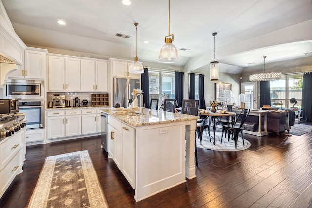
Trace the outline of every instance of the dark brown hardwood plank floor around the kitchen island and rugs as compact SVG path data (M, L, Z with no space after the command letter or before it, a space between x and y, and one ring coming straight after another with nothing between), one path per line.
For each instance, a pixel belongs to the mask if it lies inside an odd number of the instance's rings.
M199 148L195 179L140 202L112 159L104 156L100 137L28 146L24 172L3 195L0 207L27 206L46 156L89 150L111 208L311 208L311 133L245 137L251 147L244 151Z

